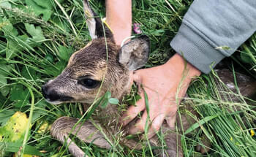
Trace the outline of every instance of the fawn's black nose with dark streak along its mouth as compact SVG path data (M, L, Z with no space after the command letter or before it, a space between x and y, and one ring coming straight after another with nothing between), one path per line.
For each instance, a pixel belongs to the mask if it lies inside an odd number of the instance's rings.
M42 86L42 96L50 102L65 102L73 99L71 96L65 96L64 94L57 93L54 89L50 88L49 85Z

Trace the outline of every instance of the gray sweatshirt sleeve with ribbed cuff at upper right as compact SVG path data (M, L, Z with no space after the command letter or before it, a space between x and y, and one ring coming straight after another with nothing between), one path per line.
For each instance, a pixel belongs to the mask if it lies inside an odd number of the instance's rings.
M255 31L256 0L195 0L170 46L208 73Z

